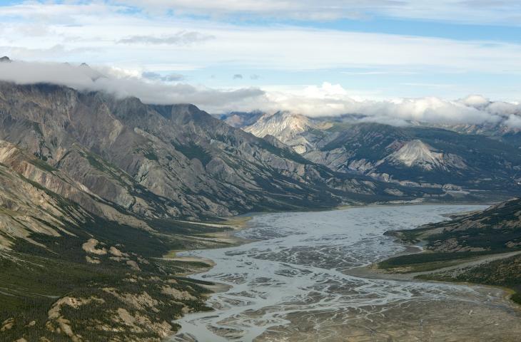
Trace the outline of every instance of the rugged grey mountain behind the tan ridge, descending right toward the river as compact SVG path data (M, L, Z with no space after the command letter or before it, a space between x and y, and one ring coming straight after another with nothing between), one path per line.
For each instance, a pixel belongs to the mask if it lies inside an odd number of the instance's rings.
M0 123L1 140L141 217L330 207L388 187L333 172L193 105L1 83Z

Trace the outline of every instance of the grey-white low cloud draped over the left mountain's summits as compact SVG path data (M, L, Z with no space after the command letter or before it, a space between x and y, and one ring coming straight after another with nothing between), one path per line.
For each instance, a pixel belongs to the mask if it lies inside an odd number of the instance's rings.
M121 68L100 68L97 71L88 66L71 66L67 63L0 63L0 81L18 84L55 83L77 90L104 91L121 98L136 96L144 103L195 103L208 110L241 105L248 99L264 95L263 90L258 88L216 90L185 83L166 84L147 81L138 71Z

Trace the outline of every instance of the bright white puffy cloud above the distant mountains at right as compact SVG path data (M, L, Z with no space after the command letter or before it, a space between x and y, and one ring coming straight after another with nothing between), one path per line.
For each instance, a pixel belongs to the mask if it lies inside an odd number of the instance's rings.
M478 99L482 100L478 102ZM266 91L265 96L252 99L248 108L235 109L260 108L268 112L288 110L310 117L361 114L365 115L365 121L391 125L406 125L410 122L517 125L521 105L488 100L485 105L485 100L479 95L462 100L443 100L435 97L360 99L351 97L349 91L340 85L323 83L322 86L301 89Z

